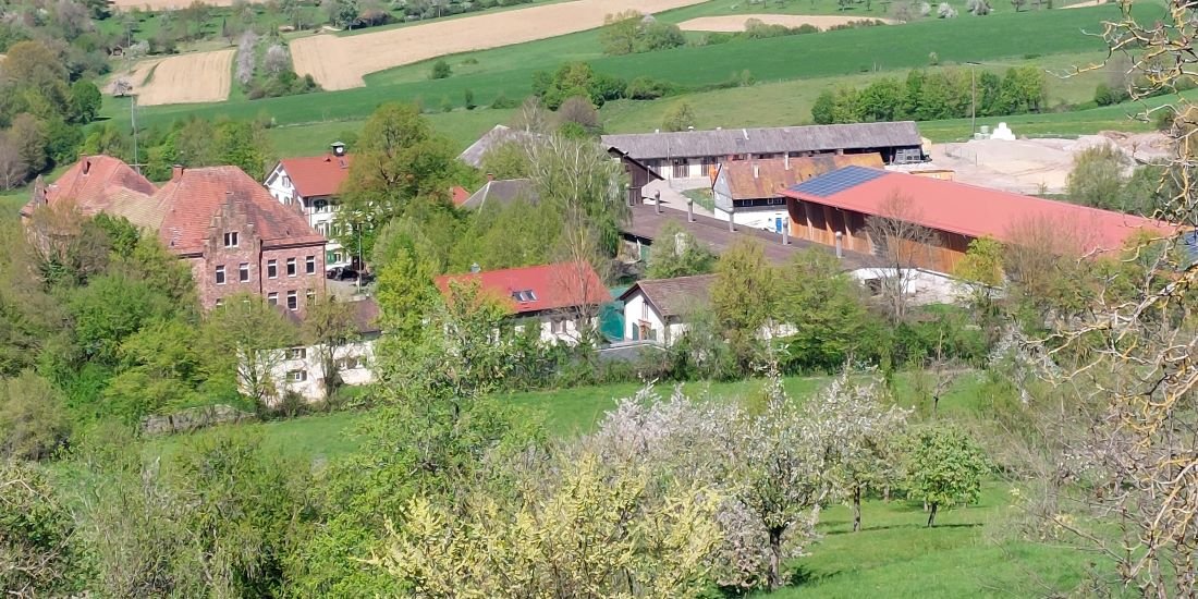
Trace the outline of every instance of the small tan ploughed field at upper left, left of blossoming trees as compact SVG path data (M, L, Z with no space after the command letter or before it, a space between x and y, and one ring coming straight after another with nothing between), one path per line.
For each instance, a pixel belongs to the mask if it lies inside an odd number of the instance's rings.
M222 102L229 99L235 54L229 48L144 60L132 71L113 75L107 91L111 93L116 79L125 78L144 107Z

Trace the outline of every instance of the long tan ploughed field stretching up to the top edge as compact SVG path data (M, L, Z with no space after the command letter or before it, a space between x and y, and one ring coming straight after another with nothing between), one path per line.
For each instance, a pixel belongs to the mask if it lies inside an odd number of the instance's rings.
M362 77L401 65L470 50L585 31L605 16L628 10L654 13L703 0L576 0L477 17L362 34L314 35L291 42L296 73L310 74L326 90L361 87Z

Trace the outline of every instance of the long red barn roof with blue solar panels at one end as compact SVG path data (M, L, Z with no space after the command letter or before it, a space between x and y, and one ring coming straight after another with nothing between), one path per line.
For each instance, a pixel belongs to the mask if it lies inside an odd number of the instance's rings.
M1139 231L1157 235L1174 231L1158 220L1119 212L906 173L877 174L860 167L812 179L783 195L864 214L882 214L887 211L885 202L896 195L909 198L910 220L915 224L1006 243L1018 243L1021 229L1037 223L1071 228L1067 234L1076 234L1082 253L1118 250Z

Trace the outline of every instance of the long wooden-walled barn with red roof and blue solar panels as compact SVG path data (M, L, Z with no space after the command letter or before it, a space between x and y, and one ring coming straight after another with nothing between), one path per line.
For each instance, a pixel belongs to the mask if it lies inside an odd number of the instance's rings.
M944 273L954 272L978 237L1019 244L1051 228L1061 249L1095 254L1117 252L1143 231L1173 232L1148 218L865 167L846 167L782 194L795 238L835 246L839 235L843 249L873 253L867 219L906 220L934 234L926 252L914 253L915 266Z

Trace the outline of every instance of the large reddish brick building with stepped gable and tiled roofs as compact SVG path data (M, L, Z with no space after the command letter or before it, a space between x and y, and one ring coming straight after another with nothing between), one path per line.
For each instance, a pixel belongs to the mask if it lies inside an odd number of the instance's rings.
M36 186L22 216L62 202L156 231L192 267L205 309L247 292L302 315L325 292L325 237L236 167L176 167L155 188L116 158L84 157L50 186Z

